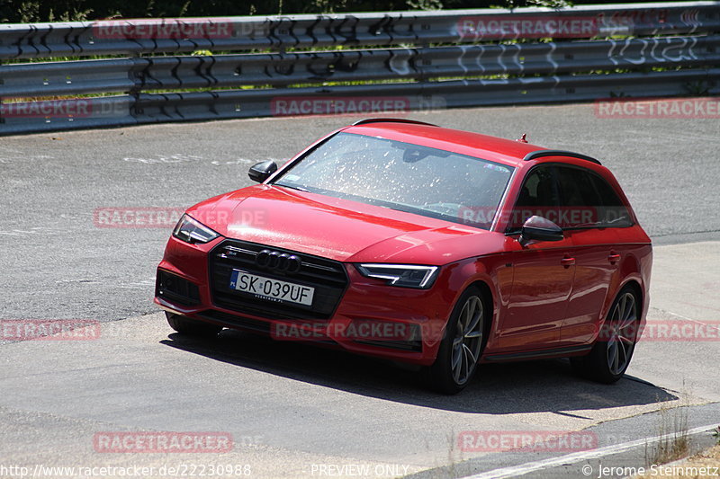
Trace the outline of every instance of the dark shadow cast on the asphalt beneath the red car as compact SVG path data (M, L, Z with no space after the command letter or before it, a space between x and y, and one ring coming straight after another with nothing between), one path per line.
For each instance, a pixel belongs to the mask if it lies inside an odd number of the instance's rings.
M278 342L227 329L212 339L172 333L161 343L279 377L356 395L455 412L556 412L584 418L572 411L678 399L678 396L642 378L628 375L614 385L591 382L576 376L567 359L482 364L472 384L462 393L448 396L431 391L421 371L344 350L299 342ZM491 400L488 400L489 397Z

